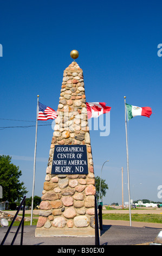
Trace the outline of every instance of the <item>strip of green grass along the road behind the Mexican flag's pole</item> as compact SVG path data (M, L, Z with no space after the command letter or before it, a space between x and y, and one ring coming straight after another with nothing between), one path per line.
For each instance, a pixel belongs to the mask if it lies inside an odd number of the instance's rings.
M129 221L129 214L103 214L103 220ZM162 223L160 214L131 214L132 221Z

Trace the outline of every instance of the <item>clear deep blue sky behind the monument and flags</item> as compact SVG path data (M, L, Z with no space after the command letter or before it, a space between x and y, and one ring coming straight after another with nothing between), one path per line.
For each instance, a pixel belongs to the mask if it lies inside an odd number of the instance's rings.
M90 131L95 176L102 170L109 190L103 203L121 204L121 167L127 183L125 111L131 105L152 108L151 118L129 121L131 198L158 201L161 173L161 1L1 1L0 126L35 125L40 102L57 109L63 70L72 63L83 69L86 99L111 106L110 134ZM48 120L51 124L52 120ZM45 121L39 124L47 124ZM53 136L38 126L35 195L42 196ZM12 156L31 196L35 127L0 130L0 154ZM139 185L142 183L142 185ZM124 184L124 201L128 200Z

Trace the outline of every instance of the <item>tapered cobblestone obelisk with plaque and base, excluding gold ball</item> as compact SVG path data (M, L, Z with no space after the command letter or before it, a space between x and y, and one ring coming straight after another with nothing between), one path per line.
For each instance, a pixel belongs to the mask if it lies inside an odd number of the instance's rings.
M95 236L95 178L83 71L64 70L35 236Z

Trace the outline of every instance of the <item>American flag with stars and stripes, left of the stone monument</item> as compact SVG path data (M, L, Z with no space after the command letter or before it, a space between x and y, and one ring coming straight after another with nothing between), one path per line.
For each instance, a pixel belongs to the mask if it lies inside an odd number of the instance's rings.
M56 117L57 112L54 109L39 102L38 120L55 119Z

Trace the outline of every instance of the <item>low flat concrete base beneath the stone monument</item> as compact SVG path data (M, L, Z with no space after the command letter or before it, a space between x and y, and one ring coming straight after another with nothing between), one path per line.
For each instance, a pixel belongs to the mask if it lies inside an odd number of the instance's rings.
M77 237L95 237L95 229L86 228L36 228L35 237L52 236L77 236Z

